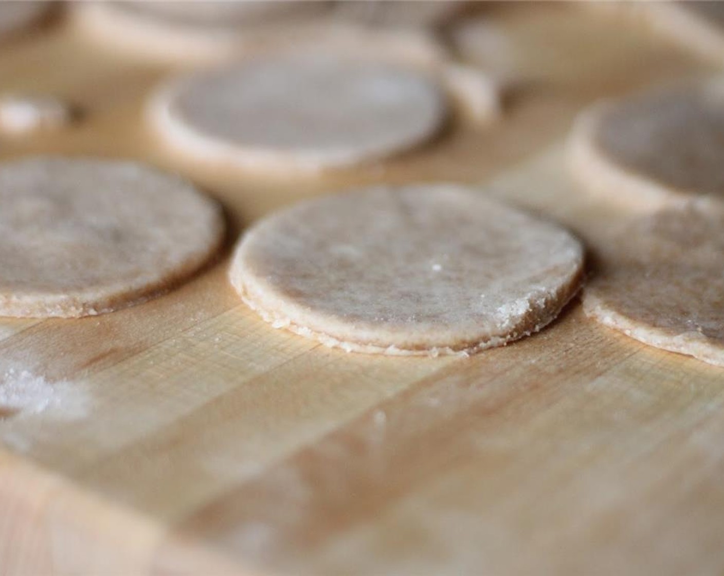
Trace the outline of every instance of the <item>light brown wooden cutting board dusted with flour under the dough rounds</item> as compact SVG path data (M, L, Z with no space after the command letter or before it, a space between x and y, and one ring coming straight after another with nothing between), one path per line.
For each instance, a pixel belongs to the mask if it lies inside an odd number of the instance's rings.
M615 218L565 174L563 138L600 96L706 72L635 25L563 4L491 8L520 81L489 128L324 178L261 178L172 156L143 101L178 65L72 22L0 51L4 90L88 109L0 141L182 172L249 222L322 191L454 180L595 243ZM1 206L0 206L1 209ZM160 299L84 320L0 320L0 574L718 574L724 371L586 320L471 359L345 354L272 330L227 256ZM10 376L9 376L10 375ZM0 409L2 407L0 406Z

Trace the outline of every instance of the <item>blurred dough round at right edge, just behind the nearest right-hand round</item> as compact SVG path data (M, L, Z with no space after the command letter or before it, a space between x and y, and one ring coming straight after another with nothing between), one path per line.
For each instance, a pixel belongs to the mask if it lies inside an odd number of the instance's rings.
M724 195L724 83L594 104L576 120L569 144L581 185L631 207Z

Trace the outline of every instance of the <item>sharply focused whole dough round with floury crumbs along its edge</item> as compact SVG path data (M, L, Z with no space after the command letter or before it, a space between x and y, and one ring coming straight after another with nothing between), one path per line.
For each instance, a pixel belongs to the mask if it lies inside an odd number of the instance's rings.
M565 230L453 185L370 188L259 222L230 280L274 327L381 354L471 354L540 330L578 291Z

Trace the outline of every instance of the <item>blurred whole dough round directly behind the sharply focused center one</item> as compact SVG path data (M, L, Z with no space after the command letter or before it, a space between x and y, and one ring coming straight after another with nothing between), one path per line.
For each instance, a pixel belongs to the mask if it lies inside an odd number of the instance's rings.
M441 127L446 103L412 70L305 54L198 72L163 88L151 120L197 157L320 170L390 156Z

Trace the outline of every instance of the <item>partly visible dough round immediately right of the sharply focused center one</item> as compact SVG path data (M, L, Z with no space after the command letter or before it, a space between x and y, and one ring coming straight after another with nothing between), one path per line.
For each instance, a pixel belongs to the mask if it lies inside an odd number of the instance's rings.
M724 208L696 199L620 226L586 314L650 346L724 366Z

